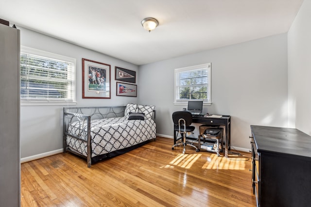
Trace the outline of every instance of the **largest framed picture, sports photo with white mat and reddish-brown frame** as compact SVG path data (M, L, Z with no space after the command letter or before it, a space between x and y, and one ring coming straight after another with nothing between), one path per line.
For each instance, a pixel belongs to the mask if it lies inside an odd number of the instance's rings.
M82 58L82 98L110 98L110 64Z

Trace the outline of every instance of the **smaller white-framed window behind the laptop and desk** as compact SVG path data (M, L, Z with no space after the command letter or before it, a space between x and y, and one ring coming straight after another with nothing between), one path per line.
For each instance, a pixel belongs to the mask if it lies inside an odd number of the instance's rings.
M175 69L175 103L200 99L211 103L211 64Z

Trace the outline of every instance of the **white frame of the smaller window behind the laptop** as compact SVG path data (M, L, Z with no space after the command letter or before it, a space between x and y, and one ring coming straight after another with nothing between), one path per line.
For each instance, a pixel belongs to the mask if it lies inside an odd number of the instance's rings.
M177 78L178 74L181 72L194 71L200 69L207 69L207 99L177 99L178 92L177 89ZM189 100L203 100L204 105L211 105L211 63L199 64L188 67L176 68L174 69L174 104L175 105L185 105Z

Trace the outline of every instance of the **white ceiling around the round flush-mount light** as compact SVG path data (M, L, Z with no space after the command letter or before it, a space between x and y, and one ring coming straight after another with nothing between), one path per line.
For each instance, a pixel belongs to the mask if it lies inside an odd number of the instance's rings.
M303 0L0 0L0 18L141 65L288 32ZM154 17L152 32L140 22Z

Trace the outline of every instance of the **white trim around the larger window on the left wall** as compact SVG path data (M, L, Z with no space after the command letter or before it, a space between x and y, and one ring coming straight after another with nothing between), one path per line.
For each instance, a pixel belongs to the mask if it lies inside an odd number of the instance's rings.
M37 55L37 56L42 56L42 57L47 57L47 58L52 58L60 61L65 61L65 62L71 62L72 65L72 76L74 79L72 80L72 101L23 101L20 99L20 106L71 106L71 105L76 105L76 59L75 58L70 58L67 56L55 54L52 52L47 52L35 48L29 48L26 46L20 46L20 52L21 53L27 53L27 54L32 54L32 55Z

